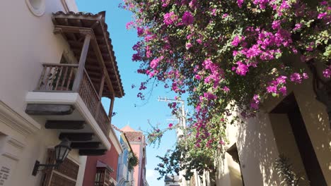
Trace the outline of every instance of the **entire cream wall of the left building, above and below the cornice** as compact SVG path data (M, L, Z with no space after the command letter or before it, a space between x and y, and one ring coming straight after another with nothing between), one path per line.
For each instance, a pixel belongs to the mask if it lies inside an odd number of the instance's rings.
M74 0L69 10L77 11ZM54 130L45 130L44 120L25 114L25 95L35 89L42 63L59 63L69 46L53 34L51 13L64 11L62 0L45 0L45 13L35 16L25 0L2 0L0 6L0 168L10 168L4 185L39 185L41 173L31 175L36 160L45 163L47 148L59 143ZM80 164L79 180L86 157L76 150L69 159Z

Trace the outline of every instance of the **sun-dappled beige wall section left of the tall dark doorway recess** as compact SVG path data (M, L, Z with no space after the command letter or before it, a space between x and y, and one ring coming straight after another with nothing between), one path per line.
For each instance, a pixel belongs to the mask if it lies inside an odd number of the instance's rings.
M279 185L274 168L278 150L266 113L239 124L238 152L245 185Z

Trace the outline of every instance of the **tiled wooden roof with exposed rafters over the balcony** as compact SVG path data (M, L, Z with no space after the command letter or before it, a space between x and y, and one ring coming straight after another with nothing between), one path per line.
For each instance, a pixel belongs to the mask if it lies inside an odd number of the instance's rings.
M93 32L92 39L95 39L98 43L98 48L105 62L105 68L112 82L112 87L108 87L105 83L103 97L112 98L112 88L114 89L115 97L123 97L124 89L112 47L112 40L107 30L108 25L105 23L105 11L96 14L82 12L64 13L59 11L52 14L52 21L55 27L65 27L67 30L70 30L70 32L62 32L62 36L69 43L77 61L79 61L84 42L84 30L91 30ZM99 65L98 56L95 53L97 52L90 47L85 68L95 88L99 89L103 68Z

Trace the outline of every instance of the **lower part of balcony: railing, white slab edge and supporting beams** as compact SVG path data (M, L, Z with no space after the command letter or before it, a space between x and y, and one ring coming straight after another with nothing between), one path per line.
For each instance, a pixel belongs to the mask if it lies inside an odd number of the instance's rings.
M83 74L77 81L77 64L44 63L42 66L36 89L28 93L25 112L45 118L45 128L59 130L59 138L69 138L73 142L72 148L79 149L81 155L103 154L110 147L107 144L111 130L110 116L103 108L100 93L96 91L86 69L83 68ZM73 100L81 100L83 104L78 106L76 101L63 101L72 95L78 98Z

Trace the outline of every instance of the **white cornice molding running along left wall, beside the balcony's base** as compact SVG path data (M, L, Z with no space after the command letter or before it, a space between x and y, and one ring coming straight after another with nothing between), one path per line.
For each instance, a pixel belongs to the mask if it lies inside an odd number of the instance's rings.
M23 136L28 137L28 135L32 135L37 130L40 130L41 125L34 120L27 120L23 118L20 114L13 111L8 105L6 105L3 101L0 101L0 121L9 128L16 130L21 133Z

